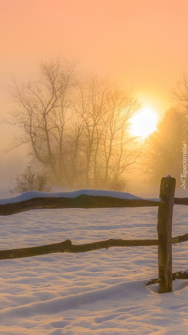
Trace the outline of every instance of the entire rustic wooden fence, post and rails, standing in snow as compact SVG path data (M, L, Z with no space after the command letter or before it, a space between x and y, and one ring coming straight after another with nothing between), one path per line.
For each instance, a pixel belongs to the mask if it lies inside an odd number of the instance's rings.
M172 244L188 241L188 234L172 238L172 216L174 204L188 205L188 198L175 198L175 178L161 180L159 198L161 201L146 199L119 199L105 196L80 195L76 198L32 198L15 203L0 205L0 215L11 215L30 209L45 208L112 208L112 207L151 207L158 206L157 240L115 240L73 245L70 240L44 246L0 250L0 260L30 257L57 252L79 253L111 247L158 246L159 278L150 280L147 285L159 283L159 293L172 292L172 281L188 279L186 272L172 273Z

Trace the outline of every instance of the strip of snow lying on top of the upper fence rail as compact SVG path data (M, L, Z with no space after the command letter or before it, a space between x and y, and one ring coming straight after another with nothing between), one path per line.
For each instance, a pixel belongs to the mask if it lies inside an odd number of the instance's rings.
M160 198L140 198L136 197L133 194L125 193L125 192L116 192L116 191L106 191L106 190L77 190L73 192L38 192L38 191L28 191L24 192L16 197L0 199L0 205L16 203L20 201L30 200L32 198L76 198L82 194L90 195L90 196L101 196L101 197L111 197L111 198L119 198L119 199L143 199L150 201L158 201L161 202Z

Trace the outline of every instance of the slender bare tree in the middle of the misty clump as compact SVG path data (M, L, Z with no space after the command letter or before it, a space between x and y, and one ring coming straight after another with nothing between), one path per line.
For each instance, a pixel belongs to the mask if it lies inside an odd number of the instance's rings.
M85 152L87 186L90 185L91 181L97 186L97 154L104 129L102 116L106 112L105 99L109 87L108 78L101 79L94 76L82 77L76 86L74 108L78 115L78 120L82 120L82 151Z

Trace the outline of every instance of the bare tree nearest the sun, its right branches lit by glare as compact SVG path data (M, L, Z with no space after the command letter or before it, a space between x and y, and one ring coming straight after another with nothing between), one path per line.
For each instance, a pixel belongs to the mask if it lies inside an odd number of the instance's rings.
M113 87L107 94L107 112L104 114L103 132L103 183L127 172L140 154L140 148L134 148L135 137L130 135L132 117L140 110L140 104L132 90Z

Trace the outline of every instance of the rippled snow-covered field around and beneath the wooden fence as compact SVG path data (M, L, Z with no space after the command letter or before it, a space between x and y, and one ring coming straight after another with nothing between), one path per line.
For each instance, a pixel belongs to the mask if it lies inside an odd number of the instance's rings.
M11 197L0 182L0 198ZM133 193L133 192L132 192ZM187 196L177 190L176 196ZM136 196L158 197L159 188ZM0 217L0 249L65 241L156 239L158 207L32 210ZM174 206L173 236L188 233ZM0 261L1 335L187 335L188 280L158 294L157 247L110 248ZM173 246L173 272L188 268L188 242Z

